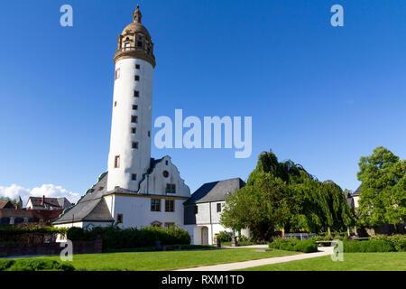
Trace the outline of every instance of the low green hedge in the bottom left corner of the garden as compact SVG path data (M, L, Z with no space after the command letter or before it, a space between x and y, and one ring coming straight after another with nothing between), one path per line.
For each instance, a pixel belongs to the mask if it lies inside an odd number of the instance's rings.
M0 259L0 271L74 271L75 267L47 259Z

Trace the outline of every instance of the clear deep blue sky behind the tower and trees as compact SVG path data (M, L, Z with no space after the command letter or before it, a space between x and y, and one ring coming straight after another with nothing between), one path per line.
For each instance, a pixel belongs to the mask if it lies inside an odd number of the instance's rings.
M60 26L72 5L74 26ZM358 160L406 155L406 2L138 1L155 43L152 119L253 117L253 154L164 149L191 191L272 151L355 190ZM345 26L330 7L343 5ZM83 194L106 171L117 35L136 1L3 1L0 189ZM152 131L152 136L157 129ZM2 193L0 190L0 194ZM40 190L41 191L41 190ZM39 191L36 191L39 193Z

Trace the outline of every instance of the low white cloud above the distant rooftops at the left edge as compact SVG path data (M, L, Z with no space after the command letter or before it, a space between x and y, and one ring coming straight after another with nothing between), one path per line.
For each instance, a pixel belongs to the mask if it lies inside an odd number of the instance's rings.
M42 184L41 187L36 187L33 189L23 188L17 184L12 184L9 187L0 186L0 196L8 197L10 199L18 199L18 197L21 196L24 204L27 202L29 197L66 197L70 202L77 202L80 199L80 195L78 193L68 191L61 186L56 186L54 184Z

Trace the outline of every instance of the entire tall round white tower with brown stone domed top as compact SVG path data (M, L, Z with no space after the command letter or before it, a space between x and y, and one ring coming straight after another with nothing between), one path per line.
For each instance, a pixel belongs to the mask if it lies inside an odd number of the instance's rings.
M141 16L137 6L133 23L118 36L107 191L116 187L138 191L150 168L155 57Z

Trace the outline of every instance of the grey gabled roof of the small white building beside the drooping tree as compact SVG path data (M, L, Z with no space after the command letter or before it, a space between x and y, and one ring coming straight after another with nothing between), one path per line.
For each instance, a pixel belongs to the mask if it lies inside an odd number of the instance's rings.
M207 182L195 191L189 200L185 201L185 205L194 203L226 200L228 193L234 192L245 186L245 182L240 178L229 179L217 182Z

